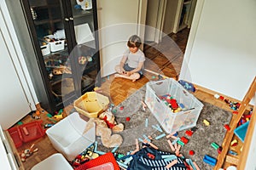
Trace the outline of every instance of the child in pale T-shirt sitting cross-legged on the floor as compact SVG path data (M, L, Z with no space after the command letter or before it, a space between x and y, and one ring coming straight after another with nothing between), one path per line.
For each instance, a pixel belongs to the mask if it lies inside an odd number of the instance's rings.
M141 38L137 35L133 35L129 38L127 42L129 49L125 51L120 64L115 66L115 71L117 71L118 74L115 74L114 77L123 77L135 82L143 76L145 55L139 48L141 43Z

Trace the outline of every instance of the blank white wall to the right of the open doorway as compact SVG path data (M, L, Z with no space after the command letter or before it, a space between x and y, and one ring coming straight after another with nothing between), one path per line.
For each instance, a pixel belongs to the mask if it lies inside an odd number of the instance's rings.
M255 8L255 0L198 0L180 79L242 100L256 76Z

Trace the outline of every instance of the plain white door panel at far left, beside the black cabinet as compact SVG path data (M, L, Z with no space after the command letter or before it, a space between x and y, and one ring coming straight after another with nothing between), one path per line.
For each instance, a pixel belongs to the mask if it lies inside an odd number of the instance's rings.
M0 23L3 24L2 10ZM0 27L0 124L3 129L7 129L26 116L31 108L11 57L13 49L8 48L9 42L4 38L6 31L3 32L2 26Z

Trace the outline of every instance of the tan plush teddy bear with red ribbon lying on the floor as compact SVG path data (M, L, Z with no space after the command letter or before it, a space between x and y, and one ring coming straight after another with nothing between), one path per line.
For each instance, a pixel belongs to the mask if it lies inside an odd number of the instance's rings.
M117 132L122 132L124 125L115 122L112 112L105 111L98 117L90 118L84 129L84 133L93 127L94 123L96 124L96 136L101 137L102 144L105 147L112 148L122 144L123 138L121 135L117 134ZM114 134L112 134L112 132Z

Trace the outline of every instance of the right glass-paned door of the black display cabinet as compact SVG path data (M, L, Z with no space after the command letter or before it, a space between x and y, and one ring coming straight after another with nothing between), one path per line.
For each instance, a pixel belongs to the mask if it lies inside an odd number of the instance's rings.
M79 94L99 86L100 60L96 20L96 0L69 0L72 10L73 55L77 71Z

